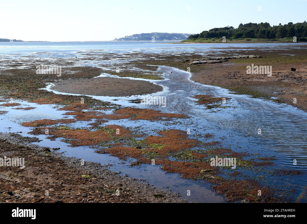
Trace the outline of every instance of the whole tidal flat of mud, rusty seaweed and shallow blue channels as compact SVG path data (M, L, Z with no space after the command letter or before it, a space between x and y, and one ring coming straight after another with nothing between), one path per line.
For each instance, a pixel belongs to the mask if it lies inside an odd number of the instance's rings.
M65 191L64 202L306 202L305 45L202 46L1 56L2 154L34 158L22 171L1 167L1 201L56 202ZM190 65L237 55L261 58ZM63 73L38 75L41 64ZM248 75L250 64L273 74ZM93 90L100 78L110 82ZM70 82L73 92L56 87ZM166 107L131 101L145 94L165 96ZM236 168L212 166L216 156L236 158ZM70 181L55 187L34 171Z

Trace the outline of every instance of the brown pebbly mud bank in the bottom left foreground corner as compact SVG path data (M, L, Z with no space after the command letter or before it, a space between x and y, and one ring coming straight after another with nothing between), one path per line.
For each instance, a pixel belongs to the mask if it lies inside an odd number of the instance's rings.
M17 134L0 133L0 158L25 158L24 169L0 167L0 202L184 202L144 180L24 142Z

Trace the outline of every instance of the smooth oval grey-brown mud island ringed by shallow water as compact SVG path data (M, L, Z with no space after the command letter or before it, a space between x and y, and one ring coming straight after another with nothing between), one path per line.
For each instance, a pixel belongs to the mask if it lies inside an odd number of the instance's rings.
M51 89L90 96L132 96L159 92L163 88L148 81L100 77L63 80L55 83Z

